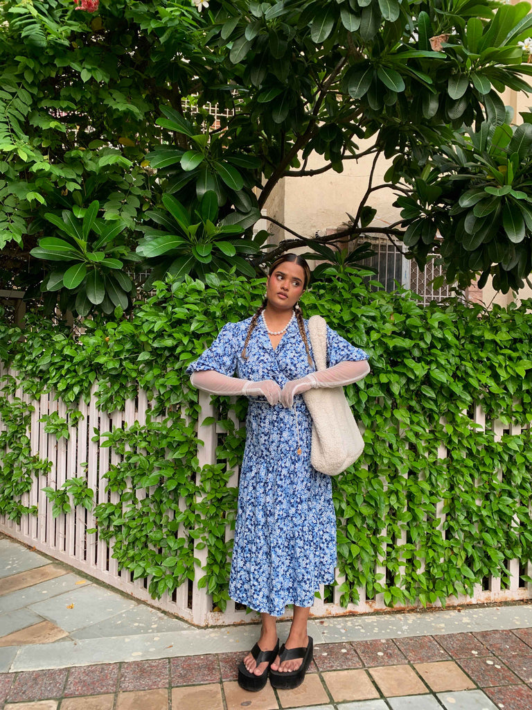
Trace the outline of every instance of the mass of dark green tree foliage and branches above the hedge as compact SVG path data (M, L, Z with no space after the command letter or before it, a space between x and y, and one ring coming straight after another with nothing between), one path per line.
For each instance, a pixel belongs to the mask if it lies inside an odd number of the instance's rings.
M4 280L15 271L30 295L109 311L124 303L101 266L111 253L128 255L130 275L201 278L235 256L252 273L305 241L292 234L259 251L265 235L252 238L279 180L341 173L369 155L392 166L358 204L346 195L343 236L385 231L421 264L440 251L449 278L492 274L502 290L519 288L532 270L532 125L527 114L518 133L499 94L528 89L529 10L497 0L6 0ZM323 167L309 168L313 154ZM403 210L386 230L372 226L377 190ZM83 247L58 220L83 234L95 202ZM106 222L123 229L102 254ZM88 300L79 263L98 285Z

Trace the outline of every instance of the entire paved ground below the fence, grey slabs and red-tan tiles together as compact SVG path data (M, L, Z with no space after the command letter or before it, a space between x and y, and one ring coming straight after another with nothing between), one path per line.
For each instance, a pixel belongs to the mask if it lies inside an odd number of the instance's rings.
M256 626L192 628L0 534L0 710L532 710L529 604L309 628L304 684L246 693Z

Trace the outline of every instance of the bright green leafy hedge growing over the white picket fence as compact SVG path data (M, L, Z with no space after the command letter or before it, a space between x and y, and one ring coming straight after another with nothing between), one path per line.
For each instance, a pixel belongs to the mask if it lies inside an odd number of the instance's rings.
M102 446L124 458L108 474L120 502L95 508L99 534L114 540L120 566L135 578L150 575L153 596L193 579L196 539L208 548L200 584L218 608L228 599L231 541L224 533L234 524L236 490L226 485L227 469L240 461L245 438L228 408L234 406L242 421L245 400L230 405L218 398L227 433L218 464L200 470L197 393L184 368L225 322L250 315L263 289L260 280L226 274L212 275L207 284L160 283L128 317L117 310L113 322L85 322L79 342L35 316L22 340L16 329L0 331L4 359L18 372L17 381L4 377L4 392L14 394L18 386L37 398L55 391L73 412L80 398L89 400L95 382L97 406L109 412L123 408L138 385L155 393L146 425L101 437ZM348 388L366 427L365 452L333 486L343 603L358 601L359 586L368 599L384 592L391 606L471 594L489 575L501 577L504 587L506 560L524 564L532 552L532 302L490 312L455 300L423 307L409 292L369 290L360 276L341 275L333 284L314 285L304 307L307 316L323 315L367 350L372 366L365 381ZM480 404L486 430L474 423ZM162 423L152 420L161 413ZM27 405L3 398L0 417L6 427L0 432L0 513L20 519L28 512L21 494L49 463L27 453L21 436ZM499 441L496 418L505 427ZM45 427L67 435L60 417L48 417ZM438 458L440 444L445 458ZM150 486L154 492L138 501L134 491ZM68 512L70 503L92 506L83 481L47 494L56 514ZM179 523L186 532L177 537ZM397 542L405 531L406 542ZM382 559L385 577L376 572Z

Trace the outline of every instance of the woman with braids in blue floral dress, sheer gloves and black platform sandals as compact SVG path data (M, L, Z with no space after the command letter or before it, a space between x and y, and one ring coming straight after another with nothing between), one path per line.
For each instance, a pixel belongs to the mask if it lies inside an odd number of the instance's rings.
M307 621L314 593L334 581L331 479L311 466L312 421L301 395L355 382L370 371L365 352L330 328L328 368L315 371L298 304L310 275L301 256L278 258L255 315L226 324L187 369L194 387L250 398L229 582L231 598L262 618L260 638L238 669L238 682L248 690L265 686L269 667L274 687L303 681L312 659ZM279 651L275 621L287 604L294 605L294 616Z

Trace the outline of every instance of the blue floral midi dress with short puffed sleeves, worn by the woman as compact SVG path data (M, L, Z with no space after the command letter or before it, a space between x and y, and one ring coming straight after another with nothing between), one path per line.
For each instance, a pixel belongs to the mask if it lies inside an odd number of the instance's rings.
M314 370L295 319L275 349L259 319L243 360L250 320L226 324L187 373L236 372L245 380L275 380L282 388ZM368 359L330 328L327 356L329 367ZM312 606L319 585L334 581L331 478L311 466L312 420L302 395L296 395L292 409L271 406L262 397L249 400L229 594L255 611L282 616L287 604Z

